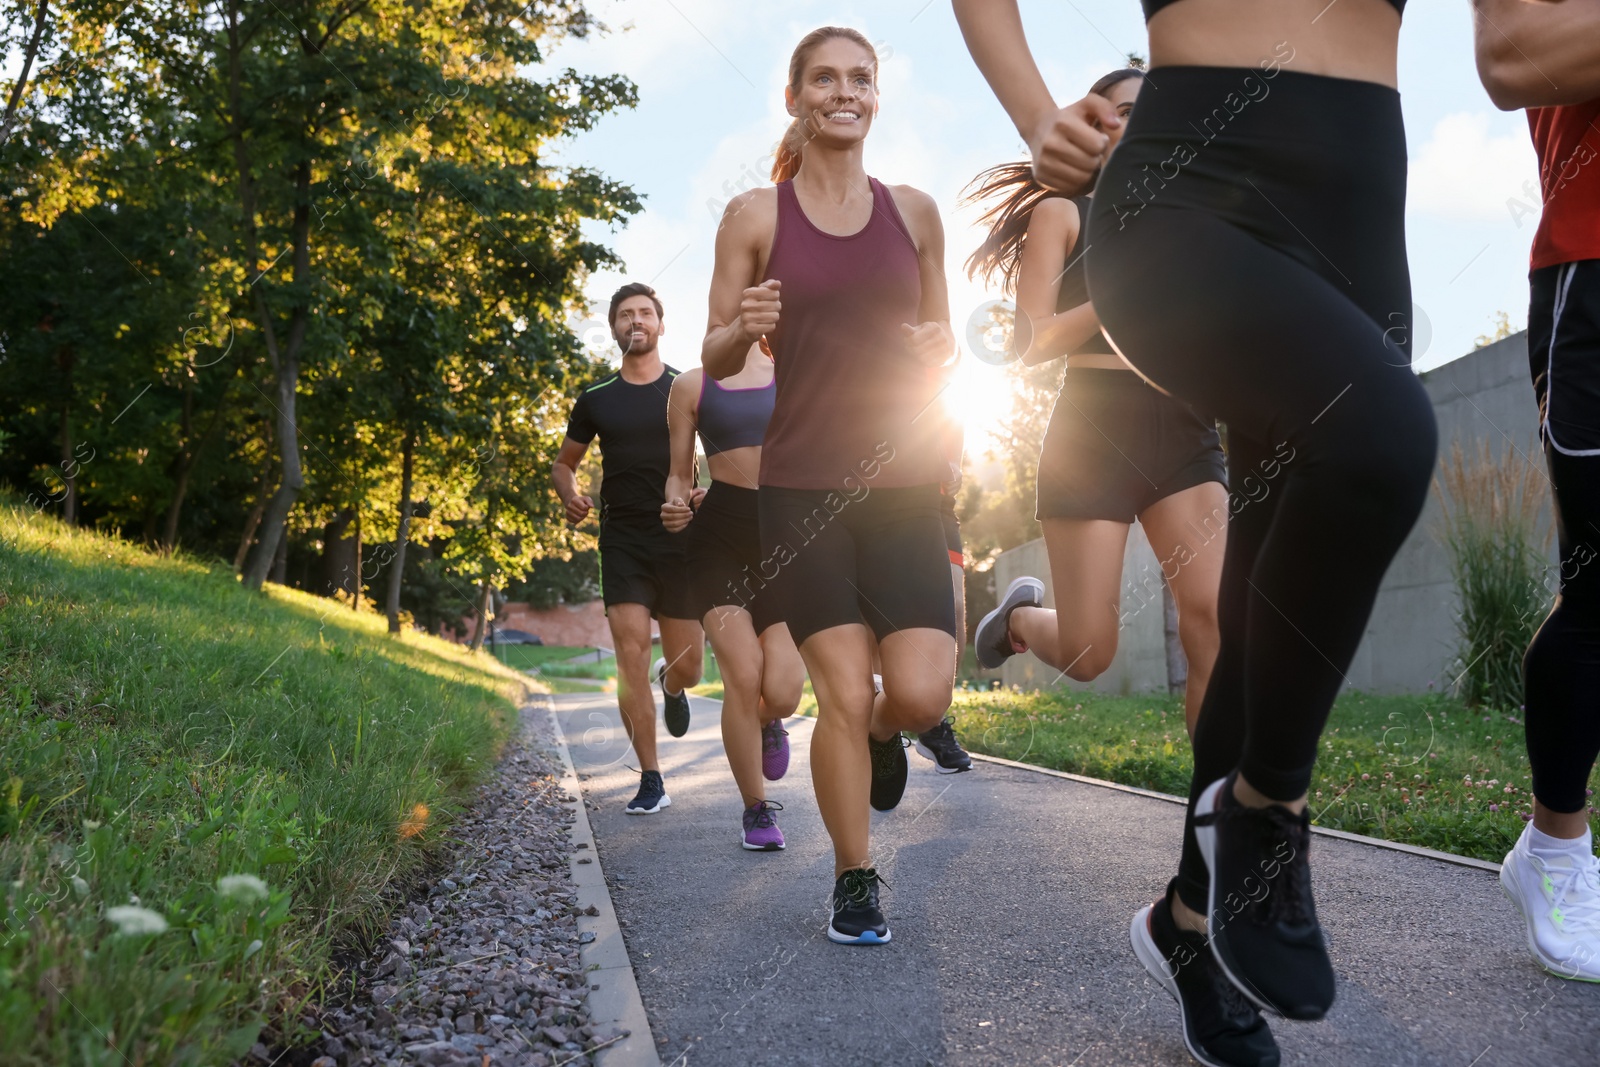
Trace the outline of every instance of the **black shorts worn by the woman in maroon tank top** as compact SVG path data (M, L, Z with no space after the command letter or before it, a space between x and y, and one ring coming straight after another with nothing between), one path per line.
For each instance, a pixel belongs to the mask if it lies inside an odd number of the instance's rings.
M955 637L955 593L939 518L939 486L834 490L763 485L760 573L795 643L864 622Z

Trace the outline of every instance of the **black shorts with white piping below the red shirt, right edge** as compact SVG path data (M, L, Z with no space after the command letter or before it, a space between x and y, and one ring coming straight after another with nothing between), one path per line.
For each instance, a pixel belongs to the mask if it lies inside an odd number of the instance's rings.
M1528 290L1539 437L1563 456L1600 456L1600 259L1539 267Z

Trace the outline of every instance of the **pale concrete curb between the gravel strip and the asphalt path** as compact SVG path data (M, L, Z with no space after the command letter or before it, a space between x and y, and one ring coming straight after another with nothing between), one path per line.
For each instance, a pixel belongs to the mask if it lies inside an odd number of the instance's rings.
M598 915L579 915L579 933L589 931L594 941L582 947L584 969L589 974L589 1017L595 1027L613 1024L630 1033L595 1053L598 1067L661 1067L656 1040L645 1016L645 1001L638 997L634 979L634 963L627 958L622 929L616 925L616 907L606 888L600 854L595 849L594 829L589 825L589 809L584 806L584 789L573 766L573 753L566 749L566 734L555 713L550 694L534 697L555 726L555 747L562 755L562 787L578 800L571 803L573 824L573 881L578 886L578 907L594 905Z

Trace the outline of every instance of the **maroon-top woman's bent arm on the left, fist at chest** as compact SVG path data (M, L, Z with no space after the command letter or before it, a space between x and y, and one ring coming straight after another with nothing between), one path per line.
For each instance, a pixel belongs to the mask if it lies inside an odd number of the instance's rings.
M776 192L752 189L728 202L717 227L710 315L701 344L701 366L715 381L738 374L750 346L778 328L778 282L758 277L776 211Z

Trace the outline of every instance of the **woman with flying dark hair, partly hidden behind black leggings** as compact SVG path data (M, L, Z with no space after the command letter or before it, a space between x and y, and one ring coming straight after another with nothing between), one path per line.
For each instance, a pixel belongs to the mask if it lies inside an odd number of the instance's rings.
M1126 118L1144 72L1123 67L1090 93ZM1107 130L1115 146L1122 126ZM1227 490L1216 427L1154 389L1110 347L1083 280L1090 195L1040 186L1029 163L979 174L971 200L987 203L989 238L966 261L973 277L1016 296L1022 363L1067 357L1061 395L1038 456L1038 522L1050 553L1054 609L1043 584L1019 577L973 635L978 662L1035 656L1078 681L1098 678L1117 654L1123 624L1122 558L1138 518L1178 605L1189 661L1184 718L1190 736L1216 659L1216 590L1227 541Z

